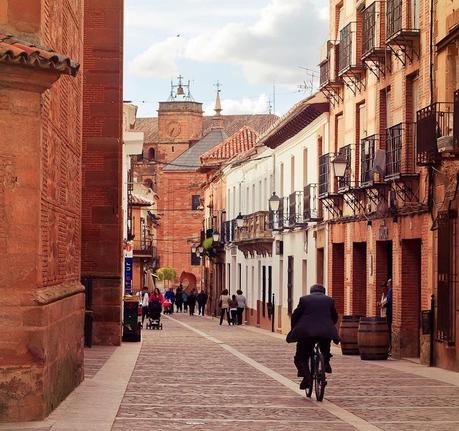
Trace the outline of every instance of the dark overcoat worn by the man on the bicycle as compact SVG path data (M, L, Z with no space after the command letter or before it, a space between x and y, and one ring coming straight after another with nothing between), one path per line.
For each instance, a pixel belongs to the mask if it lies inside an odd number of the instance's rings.
M300 298L292 314L292 330L287 335L287 342L296 343L311 337L338 342L337 321L338 313L333 298L322 292L311 292Z

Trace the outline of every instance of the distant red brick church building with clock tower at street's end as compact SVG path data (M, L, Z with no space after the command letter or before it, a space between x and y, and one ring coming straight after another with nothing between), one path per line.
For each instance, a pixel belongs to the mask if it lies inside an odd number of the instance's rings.
M191 253L203 230L203 196L206 180L199 172L200 157L242 127L263 133L274 115L216 115L205 117L202 104L184 97L160 102L157 118L140 118L136 130L145 133L143 162L137 165L139 182L150 182L159 196L158 256L160 266L172 266L190 286L201 285L201 261Z

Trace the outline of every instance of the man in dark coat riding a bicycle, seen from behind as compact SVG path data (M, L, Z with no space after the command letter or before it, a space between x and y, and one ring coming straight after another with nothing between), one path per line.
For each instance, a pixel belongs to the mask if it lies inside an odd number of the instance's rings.
M298 307L292 314L292 329L287 335L287 343L297 343L294 363L298 369L298 377L303 377L300 389L306 389L312 383L308 363L316 342L319 343L325 360L325 371L332 372L330 344L332 340L339 342L335 326L337 321L335 301L325 295L324 286L314 284L311 293L300 298Z

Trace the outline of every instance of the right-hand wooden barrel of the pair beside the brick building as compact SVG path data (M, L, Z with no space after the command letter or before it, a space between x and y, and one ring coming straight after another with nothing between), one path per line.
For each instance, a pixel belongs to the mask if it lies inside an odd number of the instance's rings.
M385 317L362 317L357 338L361 359L387 359L390 340Z

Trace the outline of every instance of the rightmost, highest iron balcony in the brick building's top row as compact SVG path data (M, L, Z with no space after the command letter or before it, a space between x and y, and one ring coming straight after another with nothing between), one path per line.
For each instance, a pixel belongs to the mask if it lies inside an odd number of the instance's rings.
M418 3L419 0L386 1L386 44L404 65L405 58L410 62L414 56L419 58Z

